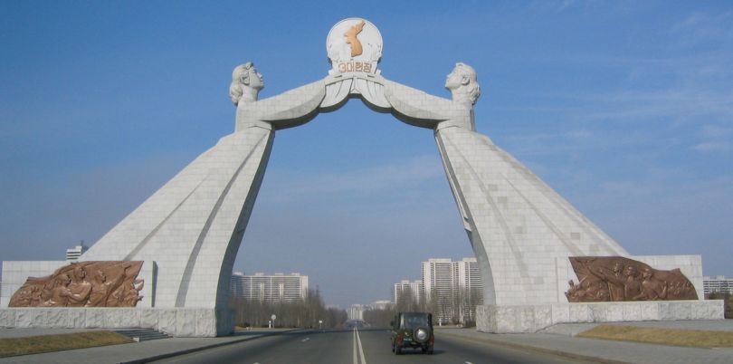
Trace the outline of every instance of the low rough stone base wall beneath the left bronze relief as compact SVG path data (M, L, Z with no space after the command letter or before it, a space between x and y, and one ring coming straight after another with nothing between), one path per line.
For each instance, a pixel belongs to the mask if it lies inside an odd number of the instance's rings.
M151 328L176 337L225 336L233 332L230 310L195 308L3 308L0 327Z

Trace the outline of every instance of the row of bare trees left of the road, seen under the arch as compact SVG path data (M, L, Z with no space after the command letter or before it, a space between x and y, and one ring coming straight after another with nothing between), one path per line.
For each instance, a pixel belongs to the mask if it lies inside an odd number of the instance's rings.
M243 327L323 328L343 327L347 312L327 308L318 290L309 292L302 301L267 302L232 298L230 307L236 312L236 324ZM275 315L274 322L271 316Z

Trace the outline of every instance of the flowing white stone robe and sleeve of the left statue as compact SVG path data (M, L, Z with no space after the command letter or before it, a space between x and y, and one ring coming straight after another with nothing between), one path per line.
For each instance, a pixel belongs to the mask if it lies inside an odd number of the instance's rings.
M233 134L195 158L80 260L155 261L155 307L225 309L275 130L314 117L325 90L322 80L240 101Z

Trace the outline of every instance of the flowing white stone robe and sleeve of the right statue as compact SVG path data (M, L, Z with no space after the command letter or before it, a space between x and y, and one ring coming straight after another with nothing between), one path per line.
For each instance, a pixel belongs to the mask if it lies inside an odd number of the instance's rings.
M434 130L453 197L481 267L485 305L566 302L557 258L628 253L519 160L475 131L470 101L387 80L392 113Z

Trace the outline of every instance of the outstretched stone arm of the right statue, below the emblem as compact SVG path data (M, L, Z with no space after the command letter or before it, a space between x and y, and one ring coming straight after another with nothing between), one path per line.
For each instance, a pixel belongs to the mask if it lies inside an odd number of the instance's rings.
M399 120L416 127L434 129L452 110L452 101L433 96L395 81L381 78L385 97L392 106L392 113Z

